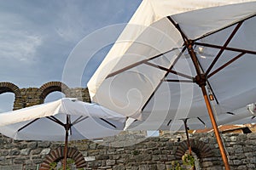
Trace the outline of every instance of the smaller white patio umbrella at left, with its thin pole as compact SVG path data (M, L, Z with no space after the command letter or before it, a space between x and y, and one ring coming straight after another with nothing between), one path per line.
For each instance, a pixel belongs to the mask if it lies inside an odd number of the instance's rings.
M0 114L0 133L20 140L63 141L64 169L68 140L99 139L120 133L125 116L78 99L58 99L43 105Z

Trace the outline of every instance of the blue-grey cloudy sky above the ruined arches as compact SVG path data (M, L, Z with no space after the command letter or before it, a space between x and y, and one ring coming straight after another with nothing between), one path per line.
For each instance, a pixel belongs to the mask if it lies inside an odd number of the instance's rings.
M39 88L65 81L70 88L85 88L141 1L0 0L1 82ZM102 41L105 45L96 48ZM0 95L0 112L13 98Z

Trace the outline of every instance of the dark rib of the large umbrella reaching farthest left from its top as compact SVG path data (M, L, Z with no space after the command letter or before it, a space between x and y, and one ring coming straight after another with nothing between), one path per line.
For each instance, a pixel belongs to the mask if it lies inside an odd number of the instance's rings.
M143 59L143 60L141 60L141 61L138 61L137 63L134 63L134 64L132 64L132 65L128 65L128 66L126 66L125 68L120 69L119 71L114 71L113 73L110 73L110 74L108 75L108 77L106 77L106 79L109 78L109 77L114 77L115 75L118 75L118 74L121 73L121 72L128 71L128 70L130 70L131 68L136 67L137 65L142 65L142 64L144 64L145 62L148 62L148 60L156 59L156 58L160 57L161 55L170 53L171 51L176 50L176 49L177 49L177 48L172 48L172 49L170 49L170 50L168 50L168 51L166 51L166 52L164 52L164 53L162 53L162 54L157 54L157 55L155 55L155 56L153 56L153 57L151 57L151 58L149 58L149 59Z

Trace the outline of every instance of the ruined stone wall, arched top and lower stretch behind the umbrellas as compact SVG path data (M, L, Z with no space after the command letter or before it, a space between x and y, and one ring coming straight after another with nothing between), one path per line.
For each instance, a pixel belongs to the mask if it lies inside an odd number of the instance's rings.
M86 88L68 88L62 82L48 82L40 88L18 88L11 82L0 82L0 94L15 94L14 110L42 104L45 97L55 91L90 101ZM231 169L256 169L256 133L227 133L222 137ZM190 144L201 169L224 169L213 133L191 134ZM39 169L45 162L58 159L55 150L63 145L61 142L19 141L0 135L0 170ZM77 167L80 164L83 169L108 170L172 169L172 161L182 163L181 156L187 151L184 133L146 138L142 132L125 132L100 141L71 142L69 147L73 150L69 157L83 158L76 161Z

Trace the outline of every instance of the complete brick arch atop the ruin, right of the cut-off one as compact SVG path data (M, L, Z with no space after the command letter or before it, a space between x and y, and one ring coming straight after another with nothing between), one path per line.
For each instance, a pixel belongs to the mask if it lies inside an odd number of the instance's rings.
M69 95L70 89L63 82L47 82L39 88L39 98L44 101L46 96L52 92L62 92L63 94Z

